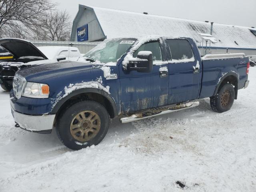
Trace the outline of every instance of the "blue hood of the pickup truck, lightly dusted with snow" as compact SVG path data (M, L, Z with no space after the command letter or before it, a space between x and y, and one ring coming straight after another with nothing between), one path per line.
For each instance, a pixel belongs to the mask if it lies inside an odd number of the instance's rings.
M89 70L99 67L100 66L96 66L90 63L63 61L26 67L18 71L18 73L25 77L27 81L36 82L38 80L50 78L52 76L58 76L70 72Z

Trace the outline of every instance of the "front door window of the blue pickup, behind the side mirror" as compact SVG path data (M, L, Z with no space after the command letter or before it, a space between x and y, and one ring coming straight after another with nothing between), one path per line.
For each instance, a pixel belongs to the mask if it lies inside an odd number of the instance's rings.
M137 57L138 52L140 51L151 51L153 56L153 61L162 61L162 53L159 42L149 42L143 44L136 50L133 54L133 57Z

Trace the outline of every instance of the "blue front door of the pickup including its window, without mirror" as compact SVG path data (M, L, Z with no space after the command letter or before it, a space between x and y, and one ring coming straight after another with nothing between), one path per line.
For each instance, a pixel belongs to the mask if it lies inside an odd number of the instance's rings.
M120 67L121 108L123 112L133 112L157 106L168 102L168 70L163 64L162 45L159 41L142 44L135 50L136 58L140 51L151 51L153 70L149 73L124 71Z

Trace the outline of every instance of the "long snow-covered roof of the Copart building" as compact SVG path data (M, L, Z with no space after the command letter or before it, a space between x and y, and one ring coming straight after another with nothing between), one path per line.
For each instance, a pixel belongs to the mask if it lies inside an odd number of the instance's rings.
M142 35L186 36L194 38L199 46L202 42L202 36L199 33L210 33L211 24L202 21L94 6L83 7L94 10L107 38ZM253 28L214 23L212 35L218 42L212 46L256 49L256 36L250 30Z

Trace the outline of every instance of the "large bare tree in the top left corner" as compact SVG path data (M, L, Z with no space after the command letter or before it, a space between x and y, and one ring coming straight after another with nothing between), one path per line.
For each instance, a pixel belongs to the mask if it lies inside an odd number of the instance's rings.
M0 36L26 36L54 7L49 0L0 0Z

